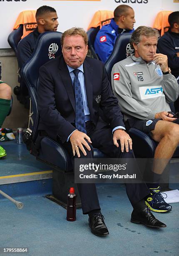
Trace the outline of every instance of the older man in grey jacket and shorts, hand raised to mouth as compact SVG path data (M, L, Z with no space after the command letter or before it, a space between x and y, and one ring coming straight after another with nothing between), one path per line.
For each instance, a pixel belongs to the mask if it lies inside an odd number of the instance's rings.
M135 52L114 65L112 89L128 127L149 133L159 142L152 168L155 184L148 184L151 196L146 198L146 204L155 212L167 212L172 206L164 201L159 181L179 144L179 118L169 113L169 102L177 100L179 86L168 67L167 56L156 53L158 36L157 30L146 26L132 33Z

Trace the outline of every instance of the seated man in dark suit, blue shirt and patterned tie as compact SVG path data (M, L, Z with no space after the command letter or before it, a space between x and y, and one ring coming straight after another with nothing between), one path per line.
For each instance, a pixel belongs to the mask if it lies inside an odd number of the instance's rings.
M39 130L63 143L74 158L92 158L93 147L109 157L134 158L132 140L125 132L117 99L112 94L104 65L86 57L87 35L82 28L71 28L61 38L63 56L40 68L38 91ZM99 117L103 110L108 124ZM100 211L95 184L77 184L83 214L89 215L92 233L109 234ZM127 195L134 210L131 221L149 227L166 227L147 209L145 184L127 184Z

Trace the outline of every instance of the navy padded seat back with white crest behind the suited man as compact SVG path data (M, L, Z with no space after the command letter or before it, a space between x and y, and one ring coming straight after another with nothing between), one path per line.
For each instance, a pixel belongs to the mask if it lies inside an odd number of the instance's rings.
M22 68L22 79L24 79L29 95L32 100L32 115L29 128L32 130L32 140L37 137L37 128L39 124L39 113L37 110L37 87L39 78L39 69L47 61L54 59L62 54L60 44L61 32L45 32L40 34L37 39L32 56Z

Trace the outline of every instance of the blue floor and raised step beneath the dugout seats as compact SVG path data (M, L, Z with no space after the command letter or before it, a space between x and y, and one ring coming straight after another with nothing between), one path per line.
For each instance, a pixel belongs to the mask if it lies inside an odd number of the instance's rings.
M0 160L0 177L50 171L29 154L25 145L17 145L15 141L0 145L7 150L6 159ZM179 184L175 184L176 188ZM172 204L169 213L154 213L167 228L147 228L130 222L132 206L123 184L97 184L109 229L109 236L102 238L90 232L87 216L82 215L81 209L77 209L77 220L68 222L66 210L45 198L52 189L50 177L2 184L0 189L24 204L18 210L12 202L0 197L0 247L28 247L30 256L179 255L179 203ZM12 255L0 253L5 254Z

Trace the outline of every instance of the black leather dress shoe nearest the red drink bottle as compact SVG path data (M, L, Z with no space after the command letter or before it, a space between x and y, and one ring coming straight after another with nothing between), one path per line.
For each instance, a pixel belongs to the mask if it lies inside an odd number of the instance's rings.
M100 214L94 214L92 217L89 217L89 226L91 232L97 236L107 236L109 231L104 223L104 216Z

